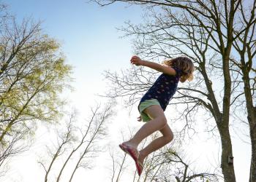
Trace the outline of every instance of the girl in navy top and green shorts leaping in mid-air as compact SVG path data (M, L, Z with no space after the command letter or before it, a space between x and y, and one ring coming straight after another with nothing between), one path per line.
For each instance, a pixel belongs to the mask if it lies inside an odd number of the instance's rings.
M195 67L192 61L185 57L165 60L163 62L164 65L160 65L141 60L138 56L133 56L131 63L136 66L147 66L162 72L148 92L141 98L138 106L140 111L138 121L143 120L146 124L138 130L133 138L119 145L123 151L127 152L135 160L138 175L140 175L143 171L143 161L148 154L173 140L173 132L167 124L164 111L176 92L178 82L191 81L193 79L192 74ZM162 137L155 139L146 148L138 151L139 143L157 130L162 132Z

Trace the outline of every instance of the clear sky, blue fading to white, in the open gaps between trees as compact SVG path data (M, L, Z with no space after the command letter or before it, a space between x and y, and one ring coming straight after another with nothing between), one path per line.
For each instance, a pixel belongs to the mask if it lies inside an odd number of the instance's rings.
M86 110L95 101L99 101L96 94L105 90L105 84L102 81L104 70L118 71L121 68L129 67L129 58L132 55L131 40L119 39L123 34L116 28L120 28L127 20L132 23L140 23L143 12L140 7L119 3L99 7L95 3L86 3L85 0L5 0L2 2L9 5L10 12L15 14L18 20L22 20L23 17L42 20L43 31L61 42L67 63L74 66L75 83L73 85L76 91L70 96L70 100L81 113L83 113L83 109ZM128 116L124 111L121 114ZM235 138L237 137L235 136ZM203 154L201 149L209 152L209 155L205 156L206 163L208 163L209 158L214 155L213 152L218 151L211 147L219 147L219 145L216 143L214 145L211 142L200 143L200 145L200 149L198 146L191 146L191 149L195 150L194 153L197 155ZM244 151L249 154L249 147L241 141L235 143L233 149L236 150L235 159L236 156L246 154ZM22 166L22 162L29 162L29 158L31 158L29 154L26 154L23 159L17 159L16 162ZM236 162L238 182L244 182L244 176L248 176L248 157L241 157ZM37 165L36 162L28 164L27 166L30 167L27 169L19 169L19 165L15 165L15 170L12 170L12 176L7 181L42 181L42 177L33 171L37 168L34 166ZM94 170L90 174L97 173L98 171ZM97 176L95 181L101 182L104 177L102 176Z

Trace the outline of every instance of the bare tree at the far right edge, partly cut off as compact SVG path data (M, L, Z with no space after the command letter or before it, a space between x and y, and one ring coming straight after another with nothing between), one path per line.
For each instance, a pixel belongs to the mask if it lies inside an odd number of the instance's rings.
M238 25L234 31L235 41L233 47L238 52L240 58L232 59L232 63L238 68L239 79L238 84L243 83L243 91L236 95L245 97L245 105L247 111L247 122L249 124L249 136L252 144L252 160L250 167L249 181L256 181L256 65L253 64L256 55L256 36L255 36L255 9L256 1L251 1L249 6L239 4ZM244 104L242 104L244 106Z

